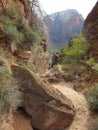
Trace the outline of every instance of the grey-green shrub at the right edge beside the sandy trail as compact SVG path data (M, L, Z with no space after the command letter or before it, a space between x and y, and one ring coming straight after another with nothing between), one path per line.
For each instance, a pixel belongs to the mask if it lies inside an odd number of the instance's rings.
M85 95L92 110L98 111L98 83L95 83L90 88L86 89Z

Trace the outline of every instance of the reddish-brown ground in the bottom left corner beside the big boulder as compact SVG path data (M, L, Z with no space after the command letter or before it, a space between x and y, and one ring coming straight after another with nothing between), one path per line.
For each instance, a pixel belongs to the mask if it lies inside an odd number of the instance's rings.
M6 120L2 121L2 130L33 130L30 119L21 112L9 112Z

